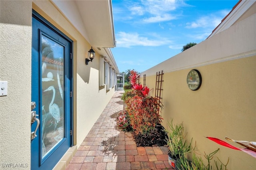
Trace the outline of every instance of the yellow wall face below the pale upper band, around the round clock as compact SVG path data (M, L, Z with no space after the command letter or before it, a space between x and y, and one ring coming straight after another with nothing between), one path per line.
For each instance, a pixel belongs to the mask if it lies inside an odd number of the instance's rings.
M166 128L171 118L184 124L188 139L196 141L200 154L220 148L217 156L223 162L230 158L228 169L254 170L255 158L220 146L206 136L225 140L256 141L256 56L196 67L202 75L197 91L188 88L186 77L191 69L164 73L162 102ZM156 75L146 77L150 95L154 95ZM235 146L239 146L238 144Z

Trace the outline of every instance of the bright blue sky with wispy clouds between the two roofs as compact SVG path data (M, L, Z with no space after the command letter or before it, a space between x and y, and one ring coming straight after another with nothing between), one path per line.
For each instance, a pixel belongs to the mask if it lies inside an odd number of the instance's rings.
M204 41L238 0L112 0L119 71L145 71Z

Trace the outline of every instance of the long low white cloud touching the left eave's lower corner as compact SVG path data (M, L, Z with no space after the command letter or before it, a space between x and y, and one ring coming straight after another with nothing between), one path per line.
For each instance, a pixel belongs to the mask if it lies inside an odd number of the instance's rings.
M151 46L156 47L170 43L166 38L149 40L148 37L140 36L138 33L118 32L116 34L117 47Z

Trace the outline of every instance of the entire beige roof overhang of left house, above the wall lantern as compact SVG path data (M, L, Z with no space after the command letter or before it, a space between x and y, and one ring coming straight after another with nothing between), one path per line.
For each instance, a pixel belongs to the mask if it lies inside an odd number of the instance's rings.
M116 46L111 0L52 0L52 2L90 43L94 51L119 72L110 49Z

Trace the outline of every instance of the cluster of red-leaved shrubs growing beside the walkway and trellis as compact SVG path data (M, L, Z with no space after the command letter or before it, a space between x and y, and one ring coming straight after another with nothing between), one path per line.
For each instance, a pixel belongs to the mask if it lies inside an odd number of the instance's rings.
M156 132L156 126L162 122L160 110L163 105L156 97L148 97L149 88L137 84L138 72L132 70L129 80L132 90L126 90L122 100L127 104L126 115L118 117L118 126L126 128L126 119L129 118L130 127L134 130L135 135L149 136L150 133Z

